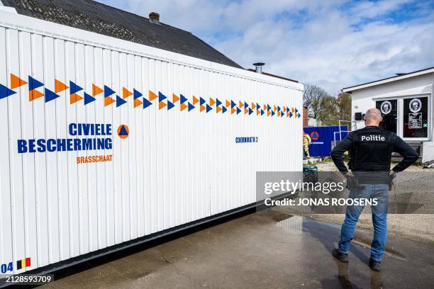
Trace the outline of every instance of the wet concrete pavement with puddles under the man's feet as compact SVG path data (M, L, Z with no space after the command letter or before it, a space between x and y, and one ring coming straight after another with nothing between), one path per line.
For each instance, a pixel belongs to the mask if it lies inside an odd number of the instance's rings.
M41 288L433 288L434 244L389 239L382 272L369 232L349 264L333 259L340 228L275 210L245 215L109 260Z

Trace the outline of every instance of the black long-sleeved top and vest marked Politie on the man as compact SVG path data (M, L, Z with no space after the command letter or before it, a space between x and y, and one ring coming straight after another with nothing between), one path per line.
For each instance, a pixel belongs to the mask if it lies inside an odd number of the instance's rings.
M331 157L343 174L348 171L343 162L343 154L346 151L350 152L349 166L352 171L389 171L392 152L398 152L404 157L394 166L394 171L404 171L419 158L415 150L401 137L377 126L350 132L333 149Z

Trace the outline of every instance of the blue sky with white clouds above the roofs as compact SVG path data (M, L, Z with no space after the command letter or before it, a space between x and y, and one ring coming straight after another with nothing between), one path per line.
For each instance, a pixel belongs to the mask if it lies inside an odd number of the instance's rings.
M323 86L434 67L434 0L99 0L188 30L245 68Z

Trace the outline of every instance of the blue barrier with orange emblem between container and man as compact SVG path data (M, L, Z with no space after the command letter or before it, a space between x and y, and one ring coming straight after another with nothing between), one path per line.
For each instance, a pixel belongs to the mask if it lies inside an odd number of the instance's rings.
M332 149L332 141L335 140L333 133L339 132L339 125L324 126L324 127L306 127L304 132L311 136L312 142L309 145L309 154L311 157L328 157ZM341 131L346 131L347 125L340 126ZM336 140L340 137L344 139L347 132L336 133Z

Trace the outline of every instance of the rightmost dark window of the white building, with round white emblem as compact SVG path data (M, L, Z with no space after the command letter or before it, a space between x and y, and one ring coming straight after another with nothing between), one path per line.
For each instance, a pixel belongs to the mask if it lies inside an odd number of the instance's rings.
M402 136L428 137L428 96L403 99Z

